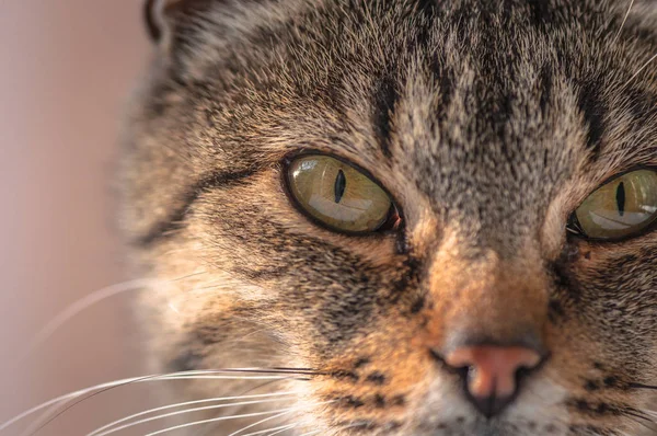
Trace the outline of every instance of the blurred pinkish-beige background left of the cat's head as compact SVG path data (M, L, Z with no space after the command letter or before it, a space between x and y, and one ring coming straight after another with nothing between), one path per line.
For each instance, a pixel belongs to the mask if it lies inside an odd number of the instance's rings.
M141 3L0 0L0 423L53 397L145 374L130 294L73 318L18 363L56 313L125 279L111 177L122 112L149 51ZM99 395L38 435L84 435L157 402L151 393Z

